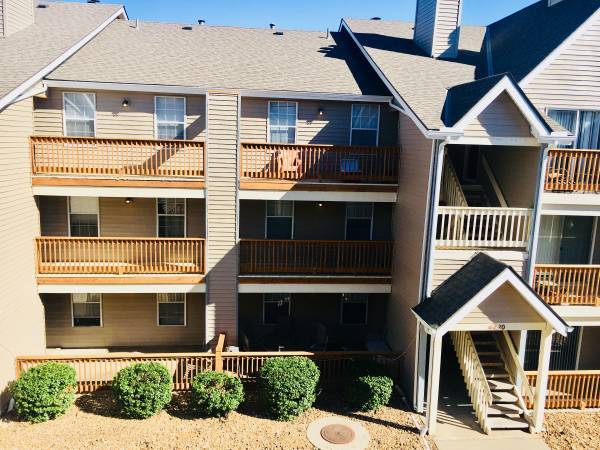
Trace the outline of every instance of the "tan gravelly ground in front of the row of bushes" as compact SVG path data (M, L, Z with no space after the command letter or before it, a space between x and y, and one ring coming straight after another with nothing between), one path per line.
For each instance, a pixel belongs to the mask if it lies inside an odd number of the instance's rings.
M411 414L398 399L376 413L348 411L334 397L320 396L317 405L293 422L276 422L257 414L255 394L239 412L226 419L199 419L187 412L185 395L177 395L165 411L146 420L117 415L110 391L80 396L67 414L56 420L30 424L14 416L0 421L1 449L311 449L306 439L309 423L343 415L359 421L370 435L369 448L421 449ZM335 405L335 406L334 406Z

